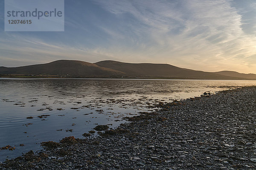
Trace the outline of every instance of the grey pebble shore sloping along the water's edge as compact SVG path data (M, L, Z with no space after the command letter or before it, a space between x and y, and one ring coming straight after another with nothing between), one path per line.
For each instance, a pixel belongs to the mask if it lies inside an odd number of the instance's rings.
M154 107L159 111L127 118L98 137L47 143L0 169L256 169L256 87Z

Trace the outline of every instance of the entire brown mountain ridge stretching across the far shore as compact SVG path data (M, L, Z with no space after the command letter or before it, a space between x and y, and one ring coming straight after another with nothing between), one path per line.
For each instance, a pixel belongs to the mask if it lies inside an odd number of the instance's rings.
M57 60L46 64L0 67L0 74L58 75L65 77L169 78L169 79L256 79L256 74L235 71L205 72L179 68L169 64L126 63L112 60L96 63Z

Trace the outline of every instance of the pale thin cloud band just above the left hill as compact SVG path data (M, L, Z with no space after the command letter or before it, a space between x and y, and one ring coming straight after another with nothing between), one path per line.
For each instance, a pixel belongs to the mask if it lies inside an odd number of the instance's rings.
M87 62L95 62L95 59L99 61L106 57L112 58L111 54L106 54L100 49L74 48L66 45L50 44L38 39L22 39L17 36L15 36L14 40L3 41L6 45L0 46L0 60L3 61L1 63L9 63L3 66L14 67L46 63L57 59L80 59ZM0 41L0 43L3 42ZM9 57L10 55L12 57ZM13 65L10 64L12 62L14 62Z

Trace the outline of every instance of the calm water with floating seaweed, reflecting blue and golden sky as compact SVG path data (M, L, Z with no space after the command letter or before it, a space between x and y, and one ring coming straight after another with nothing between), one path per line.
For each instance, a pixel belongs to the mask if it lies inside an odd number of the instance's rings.
M153 111L146 106L155 102L248 85L256 81L0 79L0 147L16 147L0 150L0 161L40 150L44 141L84 138L96 125L114 128L125 116Z

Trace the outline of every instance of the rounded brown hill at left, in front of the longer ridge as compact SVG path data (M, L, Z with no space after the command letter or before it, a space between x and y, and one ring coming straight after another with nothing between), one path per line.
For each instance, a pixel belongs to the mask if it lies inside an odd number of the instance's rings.
M0 67L0 74L49 74L70 76L104 76L123 75L120 71L103 68L90 62L76 60L58 60L47 64L28 65L22 67Z

